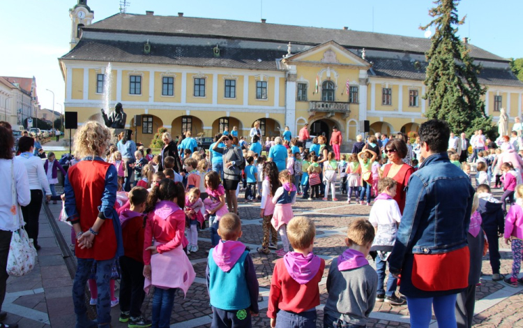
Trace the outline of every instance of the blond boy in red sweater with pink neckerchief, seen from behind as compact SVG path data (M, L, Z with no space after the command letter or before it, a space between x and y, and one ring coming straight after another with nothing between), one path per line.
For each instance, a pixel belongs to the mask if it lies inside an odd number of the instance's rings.
M273 328L316 327L318 284L325 260L312 253L315 236L316 228L309 218L296 216L287 225L294 252L285 254L274 266L267 311Z

